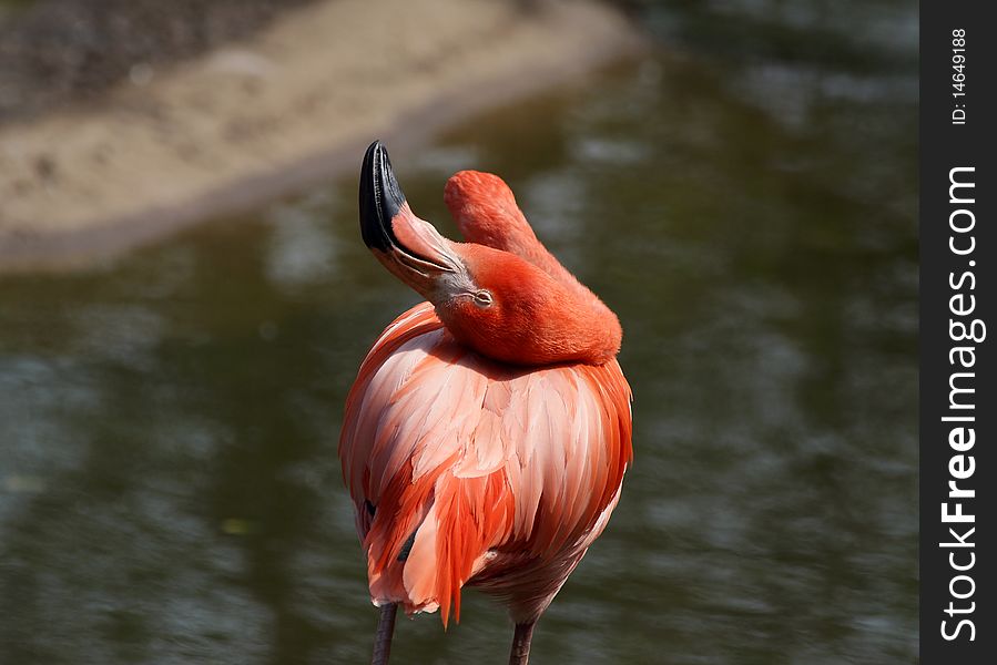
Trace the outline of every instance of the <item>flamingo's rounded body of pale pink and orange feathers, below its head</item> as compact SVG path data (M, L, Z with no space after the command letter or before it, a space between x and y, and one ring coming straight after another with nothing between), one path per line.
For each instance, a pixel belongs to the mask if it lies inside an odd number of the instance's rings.
M538 615L604 528L631 457L616 360L510 368L417 305L360 366L339 441L372 600L440 608L446 624L477 584Z

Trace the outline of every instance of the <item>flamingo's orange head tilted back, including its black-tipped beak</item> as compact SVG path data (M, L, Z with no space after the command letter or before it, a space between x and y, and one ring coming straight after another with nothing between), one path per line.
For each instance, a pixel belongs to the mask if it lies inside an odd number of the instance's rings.
M456 243L417 217L379 141L364 157L359 209L367 247L433 303L449 332L476 352L501 362L543 366L601 365L619 351L622 331L616 315L560 264L551 269L536 257ZM467 224L458 222L468 235ZM500 235L494 219L488 233Z

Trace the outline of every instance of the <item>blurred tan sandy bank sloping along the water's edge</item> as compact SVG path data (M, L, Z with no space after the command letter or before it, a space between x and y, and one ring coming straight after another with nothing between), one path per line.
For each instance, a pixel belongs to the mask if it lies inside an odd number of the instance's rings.
M424 141L489 104L640 48L613 10L329 0L99 104L0 125L0 268L64 265L344 168L375 136Z

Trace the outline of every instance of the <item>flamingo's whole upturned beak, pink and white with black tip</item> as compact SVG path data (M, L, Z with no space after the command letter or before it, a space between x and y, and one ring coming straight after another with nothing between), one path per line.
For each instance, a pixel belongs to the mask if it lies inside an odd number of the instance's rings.
M424 296L431 299L442 278L466 272L452 243L409 208L380 141L364 155L359 208L364 243L386 268Z

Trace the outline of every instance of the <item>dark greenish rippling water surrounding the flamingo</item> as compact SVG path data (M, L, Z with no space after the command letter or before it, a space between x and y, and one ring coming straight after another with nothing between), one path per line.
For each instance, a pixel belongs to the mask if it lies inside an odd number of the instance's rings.
M663 52L393 153L451 235L445 178L502 174L623 323L635 463L537 663L916 657L914 12L651 6ZM368 657L336 437L416 296L355 205L344 178L0 277L0 662ZM465 598L400 621L397 662L505 662Z

